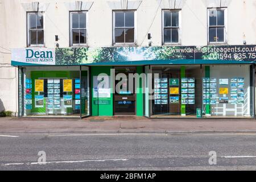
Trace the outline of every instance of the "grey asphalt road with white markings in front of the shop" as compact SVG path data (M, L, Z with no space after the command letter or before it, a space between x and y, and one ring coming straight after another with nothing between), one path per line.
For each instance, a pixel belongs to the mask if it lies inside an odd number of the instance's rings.
M256 134L0 133L0 170L246 169L256 169Z

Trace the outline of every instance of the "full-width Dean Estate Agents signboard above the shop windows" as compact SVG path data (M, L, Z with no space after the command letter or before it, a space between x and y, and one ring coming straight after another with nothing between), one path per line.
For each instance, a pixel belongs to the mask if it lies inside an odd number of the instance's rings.
M254 63L256 45L163 47L69 47L13 49L11 64L90 65L141 61L140 64ZM138 63L138 62L137 62Z

